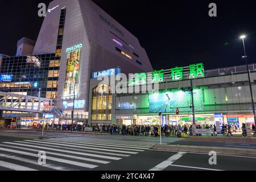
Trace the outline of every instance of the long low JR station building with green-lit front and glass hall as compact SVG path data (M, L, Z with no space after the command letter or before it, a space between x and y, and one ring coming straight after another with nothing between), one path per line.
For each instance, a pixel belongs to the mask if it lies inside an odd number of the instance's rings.
M131 74L125 85L127 90L132 88L133 92L119 94L108 92L116 88L117 85L113 85L113 82L92 79L89 123L92 125L159 125L159 113L162 113L163 124L191 125L193 123L192 97L185 91L192 85L197 124L214 125L216 121L220 121L220 125L223 123L237 125L238 128L241 128L242 123L254 125L246 66L207 71L202 69L203 74L197 77L189 76L191 72L189 73L188 70L195 65L183 69L181 67L165 71L163 69L162 76L158 77L157 90L153 86L153 89L146 93L140 91L136 93L136 84L141 88L143 85L148 88L154 78L152 75L159 73L158 71ZM256 95L255 68L255 64L249 66L254 96ZM175 69L176 71L181 69L183 75L177 75L181 72L175 73ZM141 75L137 81L136 75ZM145 75L149 80L145 79ZM179 115L176 110L179 110ZM112 117L105 119L106 113Z

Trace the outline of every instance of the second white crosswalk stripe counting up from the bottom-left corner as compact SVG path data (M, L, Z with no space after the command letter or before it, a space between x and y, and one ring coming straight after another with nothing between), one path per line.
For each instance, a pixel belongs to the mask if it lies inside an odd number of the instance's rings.
M20 162L30 163L30 164L34 164L36 166L41 166L41 165L38 164L38 162L36 162L34 160L30 160L30 159L27 159L27 158L20 158L18 156L14 156L14 155L0 154L0 157L8 158L8 159L13 159L13 160L18 160ZM46 168L50 168L50 169L55 169L55 170L58 170L58 171L74 171L75 170L75 169L69 169L67 167L56 166L55 164L46 164L46 165L42 165L42 167L46 167Z

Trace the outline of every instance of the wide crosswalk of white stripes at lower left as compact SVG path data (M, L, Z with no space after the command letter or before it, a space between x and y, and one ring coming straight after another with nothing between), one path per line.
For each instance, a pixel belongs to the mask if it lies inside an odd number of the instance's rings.
M0 167L15 171L84 171L129 158L154 142L67 137L0 143ZM45 152L46 163L39 162Z

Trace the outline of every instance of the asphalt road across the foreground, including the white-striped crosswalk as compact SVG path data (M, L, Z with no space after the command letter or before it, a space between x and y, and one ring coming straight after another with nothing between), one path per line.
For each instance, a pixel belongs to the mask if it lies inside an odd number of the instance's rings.
M217 155L217 164L210 165L208 154L151 150L152 144L159 142L159 138L154 137L94 135L73 137L70 134L66 134L66 137L56 137L44 140L0 137L0 170L113 172L256 170L256 158L251 157ZM177 142L186 142L186 140L163 139L163 143ZM43 166L38 163L39 151L46 152L46 164Z

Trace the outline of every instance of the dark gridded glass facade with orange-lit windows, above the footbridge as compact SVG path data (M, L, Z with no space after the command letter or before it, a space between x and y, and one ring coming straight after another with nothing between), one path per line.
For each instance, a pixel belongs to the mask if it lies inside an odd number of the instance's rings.
M4 57L1 75L13 75L11 82L0 82L1 92L56 98L60 57L55 53L36 56Z

